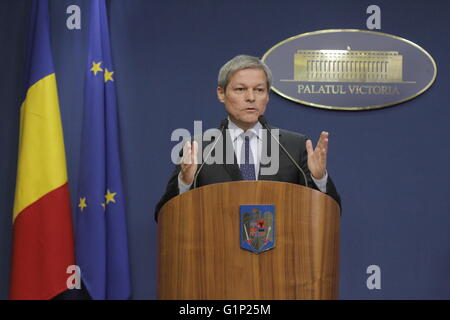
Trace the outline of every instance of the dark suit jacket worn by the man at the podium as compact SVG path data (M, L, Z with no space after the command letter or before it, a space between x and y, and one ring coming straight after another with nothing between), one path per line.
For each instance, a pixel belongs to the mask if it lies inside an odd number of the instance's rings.
M275 129L272 128L271 129ZM230 182L230 181L239 181L242 180L241 170L239 169L239 165L236 161L236 155L233 148L233 143L231 142L231 137L227 131L225 131L224 137L226 139L223 145L223 154L224 159L226 159L227 154L234 154L234 163L233 164L205 164L200 171L197 177L197 187L205 186L213 183L222 183L222 182ZM268 135L270 137L270 135ZM314 188L318 190L316 184L311 178L311 173L308 169L307 161L308 155L306 151L306 141L308 138L302 134L282 130L279 129L279 141L280 143L288 150L291 156L297 161L299 166L305 172L305 175L308 180L308 186L310 188ZM213 142L211 142L213 143ZM263 150L269 150L268 156L270 156L270 146L271 144L276 143L273 138L263 139ZM203 145L203 150L208 144ZM220 143L218 143L220 145ZM267 145L267 149L264 149ZM217 146L216 146L217 148ZM214 156L214 152L212 153ZM225 161L224 161L225 162ZM261 175L261 168L268 167L270 164L260 164L258 180L271 180L271 181L281 181L281 182L290 182L300 185L305 185L303 175L299 172L299 170L295 167L295 165L289 160L287 155L284 153L281 148L279 148L279 168L278 172L274 175ZM200 168L200 164L198 166ZM198 170L198 169L197 169ZM175 197L179 193L178 189L178 174L180 172L180 166L177 165L175 170L173 171L169 182L167 184L166 192L162 196L161 200L158 202L155 208L155 219L158 220L158 213L161 207L169 201L171 198ZM331 180L330 175L328 174L327 181L327 194L334 198L339 206L341 205L340 196L336 190L336 187Z

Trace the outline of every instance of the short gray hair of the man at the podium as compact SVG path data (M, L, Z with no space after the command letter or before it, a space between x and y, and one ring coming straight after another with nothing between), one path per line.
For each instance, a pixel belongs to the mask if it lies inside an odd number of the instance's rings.
M259 68L264 70L267 79L267 89L270 90L270 87L272 86L272 72L270 71L269 67L258 57L247 55L236 56L225 63L222 68L220 68L218 78L219 87L225 91L227 89L231 76L236 71L249 68Z

